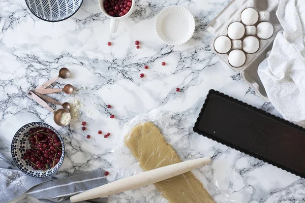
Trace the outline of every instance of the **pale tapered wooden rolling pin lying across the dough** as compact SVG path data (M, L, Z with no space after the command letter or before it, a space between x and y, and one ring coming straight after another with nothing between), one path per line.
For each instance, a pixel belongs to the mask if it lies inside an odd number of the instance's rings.
M96 187L85 192L79 193L70 197L71 202L84 201L87 199L94 199L98 197L105 197L108 195L133 190L139 187L150 185L163 181L165 179L184 174L195 168L203 166L211 162L209 157L198 158L190 161L175 163L147 172L143 172L134 176L130 176L121 180Z

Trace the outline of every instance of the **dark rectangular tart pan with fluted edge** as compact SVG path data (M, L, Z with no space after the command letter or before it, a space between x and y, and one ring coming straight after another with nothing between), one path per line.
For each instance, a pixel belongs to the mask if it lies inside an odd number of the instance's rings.
M215 112L215 115L211 112ZM240 124L245 127L234 128ZM305 159L302 157L305 152L305 129L285 119L211 89L193 130L305 178Z

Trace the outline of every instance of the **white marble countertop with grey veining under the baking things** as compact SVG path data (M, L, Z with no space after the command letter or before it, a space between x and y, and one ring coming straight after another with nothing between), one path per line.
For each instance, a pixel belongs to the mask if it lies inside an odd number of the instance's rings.
M37 19L24 1L0 1L0 150L10 157L11 140L22 125L47 122L58 129L67 150L58 176L102 167L113 181L117 178L113 167L119 165L113 157L118 142L114 135L139 113L167 110L175 115L173 131L181 135L169 142L181 159L212 157L210 165L194 173L217 202L303 202L303 179L192 130L209 89L277 114L209 47L211 36L205 27L228 2L140 0L134 13L120 22L117 33L110 35L110 20L100 12L96 0L84 0L74 16L57 23ZM196 30L188 43L172 47L157 38L154 22L163 8L175 4L194 15ZM136 40L140 49L134 45ZM112 46L107 46L108 41ZM167 64L162 66L162 61ZM148 70L144 70L145 64ZM25 95L63 66L70 69L71 77L58 80L54 88L71 83L77 90L73 96L51 96L60 101L73 97L83 104L81 115L70 127L56 126L52 114ZM140 73L145 74L143 79ZM176 92L176 87L181 91ZM112 108L107 109L107 104ZM110 114L115 118L110 119ZM87 122L85 131L81 130L83 120ZM112 136L104 139L98 130ZM161 200L152 185L109 197L109 202ZM34 201L29 197L20 200Z

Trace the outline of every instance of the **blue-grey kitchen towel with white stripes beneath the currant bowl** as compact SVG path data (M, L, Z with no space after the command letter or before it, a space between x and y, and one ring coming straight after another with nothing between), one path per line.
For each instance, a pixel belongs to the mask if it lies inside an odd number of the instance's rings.
M42 202L71 202L69 197L107 184L104 170L72 175L63 179L34 178L23 174L0 152L0 202L7 202L25 193ZM84 202L107 202L107 197Z

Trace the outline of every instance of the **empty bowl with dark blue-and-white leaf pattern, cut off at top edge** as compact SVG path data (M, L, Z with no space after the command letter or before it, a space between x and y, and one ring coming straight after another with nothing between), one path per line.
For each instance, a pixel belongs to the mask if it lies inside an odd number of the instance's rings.
M38 18L57 22L70 18L83 0L25 0L28 9Z

